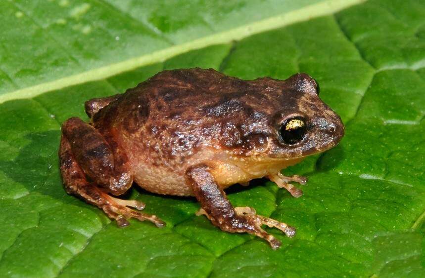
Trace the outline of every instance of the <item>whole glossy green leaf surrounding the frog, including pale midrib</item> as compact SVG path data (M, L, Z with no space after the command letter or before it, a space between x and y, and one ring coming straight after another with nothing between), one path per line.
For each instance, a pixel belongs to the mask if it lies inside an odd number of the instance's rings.
M1 1L0 276L423 276L425 3L341 10L355 2ZM193 198L135 187L125 197L167 227L119 229L63 190L61 122L87 120L87 99L196 66L306 72L346 124L337 147L285 170L309 176L301 198L266 180L228 190L297 227L295 238L268 230L279 250L195 216Z

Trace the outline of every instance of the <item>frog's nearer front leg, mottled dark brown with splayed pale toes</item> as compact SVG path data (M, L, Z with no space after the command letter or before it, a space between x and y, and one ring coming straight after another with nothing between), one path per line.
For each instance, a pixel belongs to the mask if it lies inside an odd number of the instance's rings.
M220 229L231 233L249 233L269 241L273 249L279 248L281 241L261 229L262 225L276 227L288 237L295 235L295 229L285 223L257 215L249 207L234 208L211 174L208 165L192 166L186 172L187 182L196 199L200 202L200 214Z

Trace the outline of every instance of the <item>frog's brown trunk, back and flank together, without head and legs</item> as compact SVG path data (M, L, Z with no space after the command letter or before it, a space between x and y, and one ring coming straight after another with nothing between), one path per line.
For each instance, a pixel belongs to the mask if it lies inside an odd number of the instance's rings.
M271 87L279 86L278 80L246 81L212 69L163 71L127 90L93 122L127 154L142 187L191 195L189 188L176 186L185 184L188 166L223 149L243 155L254 142L247 140L250 134L262 140L273 132L270 114L281 104L279 90ZM157 180L164 186L150 186Z

